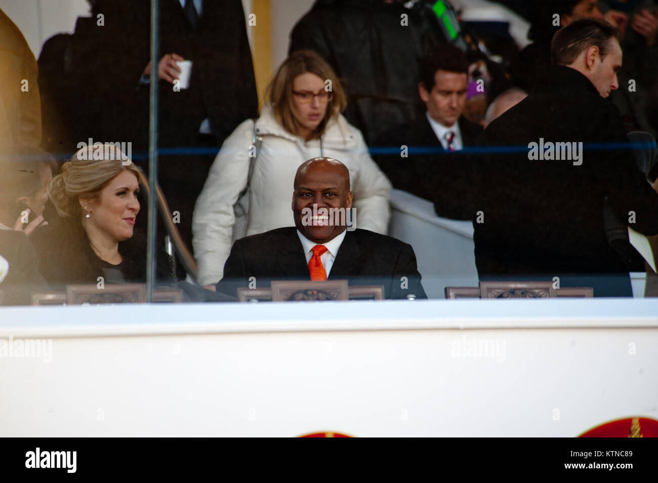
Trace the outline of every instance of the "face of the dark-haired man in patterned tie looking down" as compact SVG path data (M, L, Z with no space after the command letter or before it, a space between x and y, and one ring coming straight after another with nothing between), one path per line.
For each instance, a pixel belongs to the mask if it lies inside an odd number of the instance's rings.
M445 127L455 124L464 110L467 82L467 74L437 70L434 74L434 87L430 92L422 83L418 84L420 99L427 106L432 119Z

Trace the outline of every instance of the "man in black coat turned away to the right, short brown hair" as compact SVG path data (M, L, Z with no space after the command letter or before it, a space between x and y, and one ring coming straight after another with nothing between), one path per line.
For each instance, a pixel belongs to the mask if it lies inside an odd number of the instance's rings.
M478 141L473 225L482 279L553 280L631 296L604 228L607 198L640 233L658 233L658 196L638 170L619 116L615 28L584 19L553 37L553 65Z

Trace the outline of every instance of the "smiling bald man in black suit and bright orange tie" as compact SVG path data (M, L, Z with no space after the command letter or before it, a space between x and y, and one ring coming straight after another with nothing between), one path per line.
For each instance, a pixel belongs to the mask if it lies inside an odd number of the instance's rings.
M348 231L349 218L338 214L351 208L345 165L332 158L303 163L294 183L295 228L236 241L217 292L234 296L254 281L261 288L272 280L347 279L349 285L384 285L385 298L427 298L413 248L372 231Z

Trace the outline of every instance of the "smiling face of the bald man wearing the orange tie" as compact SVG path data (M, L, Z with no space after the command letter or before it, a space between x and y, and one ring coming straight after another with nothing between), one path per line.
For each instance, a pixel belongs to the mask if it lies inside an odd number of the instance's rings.
M311 223L304 223L303 210L316 211L320 216L311 218ZM331 162L324 158L315 158L302 164L295 176L295 191L292 197L292 210L295 226L312 242L326 243L345 230L345 225L339 225L340 217L334 216L334 224L330 225L328 217L322 216L332 208L352 207L352 192L349 191L349 171L342 163ZM307 218L308 219L308 218Z

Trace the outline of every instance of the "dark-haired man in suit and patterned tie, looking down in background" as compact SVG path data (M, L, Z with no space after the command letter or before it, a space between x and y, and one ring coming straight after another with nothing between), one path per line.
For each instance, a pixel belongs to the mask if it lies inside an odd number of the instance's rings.
M467 81L468 60L461 50L446 44L430 51L420 63L418 83L426 114L376 143L387 147L375 160L393 187L434 202L436 214L445 218L472 218L474 168L461 151L476 144L482 126L462 116Z

